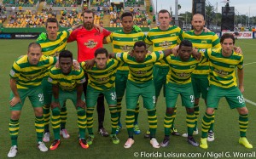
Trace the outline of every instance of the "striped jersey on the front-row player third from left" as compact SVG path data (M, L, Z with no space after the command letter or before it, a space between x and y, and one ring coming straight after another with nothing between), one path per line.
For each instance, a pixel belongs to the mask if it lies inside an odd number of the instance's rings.
M88 74L88 86L96 90L108 90L114 87L115 73L121 63L118 60L108 60L105 69L100 70L93 65L91 69L85 68L86 61L81 63L82 68Z

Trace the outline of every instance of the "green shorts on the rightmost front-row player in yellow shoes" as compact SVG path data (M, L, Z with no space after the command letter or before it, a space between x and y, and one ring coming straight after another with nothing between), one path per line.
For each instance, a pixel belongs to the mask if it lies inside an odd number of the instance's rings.
M237 87L219 88L212 85L207 94L207 108L218 108L219 99L225 97L230 105L230 109L246 106L241 91Z

